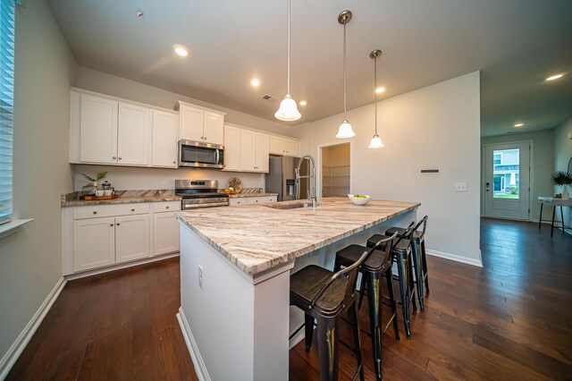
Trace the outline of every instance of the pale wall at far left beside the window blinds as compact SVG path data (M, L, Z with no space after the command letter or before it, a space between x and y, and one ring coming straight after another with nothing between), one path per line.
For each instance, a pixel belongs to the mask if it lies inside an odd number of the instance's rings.
M60 195L76 64L45 1L16 7L13 211L35 218L0 241L0 360L62 277Z

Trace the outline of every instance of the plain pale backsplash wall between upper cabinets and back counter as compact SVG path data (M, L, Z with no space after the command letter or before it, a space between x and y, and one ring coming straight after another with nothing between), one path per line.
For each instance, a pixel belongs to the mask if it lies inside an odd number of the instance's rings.
M218 186L224 189L231 177L238 177L243 188L265 189L265 174L248 174L243 172L206 171L198 169L145 168L107 165L71 165L71 176L74 189L88 184L82 174L94 176L98 172L107 171L105 180L111 182L115 190L172 190L175 180L217 180Z

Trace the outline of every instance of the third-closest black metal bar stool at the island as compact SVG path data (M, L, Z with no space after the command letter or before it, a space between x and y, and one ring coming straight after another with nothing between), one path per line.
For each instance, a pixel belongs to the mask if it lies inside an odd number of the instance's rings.
M400 277L401 311L403 313L405 334L408 336L408 339L411 339L409 303L413 304L415 311L417 310L416 291L415 287L413 287L413 276L411 274L411 233L413 233L414 225L415 222L412 222L401 236L398 235L399 238L393 245L392 250L392 258L397 263L398 275ZM375 242L387 238L389 238L387 235L374 234L367 240L367 247L370 248L375 245Z

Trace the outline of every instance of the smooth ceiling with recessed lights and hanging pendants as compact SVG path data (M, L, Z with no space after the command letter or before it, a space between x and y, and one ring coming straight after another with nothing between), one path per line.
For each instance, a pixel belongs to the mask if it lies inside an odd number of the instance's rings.
M80 65L276 121L286 0L47 1ZM546 130L572 116L572 1L292 0L291 94L308 104L290 124L343 112L344 9L353 13L349 109L374 101L369 53L379 48L380 99L482 71L482 136ZM189 56L173 55L175 44ZM567 75L543 81L556 72Z

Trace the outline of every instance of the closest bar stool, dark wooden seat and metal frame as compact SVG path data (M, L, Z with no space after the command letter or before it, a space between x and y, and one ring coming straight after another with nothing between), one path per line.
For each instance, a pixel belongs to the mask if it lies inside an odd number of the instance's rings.
M379 244L374 244L372 249L364 250L352 265L335 273L323 267L310 265L290 275L290 304L305 313L306 351L310 350L314 319L317 320L320 379L323 381L338 379L338 331L341 314L346 311L349 311L353 328L354 352L357 359L354 379L359 373L359 378L364 381L357 318L357 270L379 247ZM294 334L297 332L298 330Z

